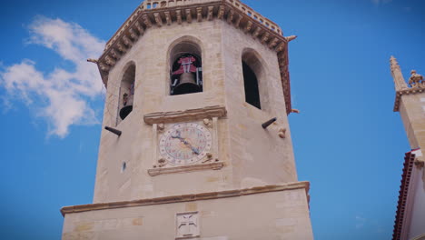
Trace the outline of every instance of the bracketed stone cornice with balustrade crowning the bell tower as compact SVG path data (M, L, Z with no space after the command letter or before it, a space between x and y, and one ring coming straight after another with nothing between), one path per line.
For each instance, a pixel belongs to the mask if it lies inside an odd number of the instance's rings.
M153 1L148 2L152 3ZM105 86L107 86L109 71L149 28L162 27L164 23L181 25L183 21L193 23L212 21L213 18L217 18L252 35L262 45L266 45L276 52L287 114L292 112L288 71L289 38L282 35L282 30L278 25L254 12L239 0L191 0L182 5L170 5L167 1L167 5L158 4L159 6L146 9L144 5L149 4L148 2L134 10L124 25L107 42L103 55L99 57L97 65Z

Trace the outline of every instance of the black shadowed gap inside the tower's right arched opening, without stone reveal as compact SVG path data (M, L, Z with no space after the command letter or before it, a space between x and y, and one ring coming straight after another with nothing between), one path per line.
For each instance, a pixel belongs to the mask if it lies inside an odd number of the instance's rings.
M258 80L251 67L242 61L243 84L245 87L245 102L250 105L262 109L260 104L260 92L258 88Z

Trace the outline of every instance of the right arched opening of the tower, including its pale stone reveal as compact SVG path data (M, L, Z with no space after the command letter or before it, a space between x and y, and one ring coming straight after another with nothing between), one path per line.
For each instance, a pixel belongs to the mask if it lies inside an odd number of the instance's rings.
M253 51L242 54L243 86L245 102L262 109L259 77L262 75L262 64Z

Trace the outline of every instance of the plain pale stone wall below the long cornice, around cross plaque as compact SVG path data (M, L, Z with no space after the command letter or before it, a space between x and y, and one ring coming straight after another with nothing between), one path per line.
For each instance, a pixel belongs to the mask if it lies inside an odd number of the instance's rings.
M304 189L67 214L63 239L175 239L175 215L187 212L198 213L199 239L312 239ZM80 219L93 230L72 231Z

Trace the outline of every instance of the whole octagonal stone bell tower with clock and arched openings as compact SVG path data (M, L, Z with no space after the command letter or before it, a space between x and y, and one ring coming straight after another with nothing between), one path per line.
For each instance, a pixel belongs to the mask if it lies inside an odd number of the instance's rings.
M61 210L63 239L312 239L287 117L293 38L238 0L138 6L92 60L108 131L94 203Z

